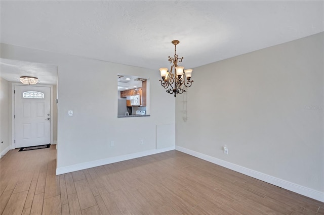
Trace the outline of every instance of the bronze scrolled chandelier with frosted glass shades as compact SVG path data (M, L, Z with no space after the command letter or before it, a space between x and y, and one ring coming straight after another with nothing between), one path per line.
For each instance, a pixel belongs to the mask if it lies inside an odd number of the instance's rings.
M184 70L184 67L178 66L178 61L181 63L183 60L183 57L178 58L176 52L176 46L179 43L179 40L172 41L172 44L174 44L174 58L169 56L169 62L170 64L173 64L171 70L168 71L168 68L160 68L160 74L162 77L162 80L160 80L161 85L167 89L168 93L174 93L174 97L176 97L177 94L185 92L186 90L184 87L190 87L193 82L190 81L192 69ZM184 78L184 75L186 78Z

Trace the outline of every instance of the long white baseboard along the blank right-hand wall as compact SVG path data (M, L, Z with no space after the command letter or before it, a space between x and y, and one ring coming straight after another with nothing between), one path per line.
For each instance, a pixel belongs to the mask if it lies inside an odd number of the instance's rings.
M221 160L221 159L218 159L218 158L215 158L215 157L203 154L203 153L199 153L199 152L187 149L187 148L176 146L176 150L184 152L186 154L190 154L190 155L198 157L200 159L207 160L208 162L217 164L219 166L236 171L238 173L242 173L244 175L259 179L261 181L265 181L265 182L273 184L275 186L282 187L284 189L293 191L295 193L307 196L309 198L324 202L324 193L323 192L320 192L320 191L317 191L317 190L314 190L311 188L307 188L307 187L304 187L304 186L301 186L301 185L298 185L298 184L295 184L295 183L292 183L289 181L285 181L285 180L282 180L282 179L279 179L279 178L276 178L273 176L269 176L264 173L257 172L255 170L241 167L236 164L232 164L232 163L226 162L224 160Z

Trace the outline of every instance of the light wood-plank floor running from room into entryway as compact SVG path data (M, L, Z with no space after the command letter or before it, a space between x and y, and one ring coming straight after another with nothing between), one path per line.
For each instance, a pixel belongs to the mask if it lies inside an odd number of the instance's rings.
M324 203L169 151L56 176L55 146L0 159L0 214L324 214Z

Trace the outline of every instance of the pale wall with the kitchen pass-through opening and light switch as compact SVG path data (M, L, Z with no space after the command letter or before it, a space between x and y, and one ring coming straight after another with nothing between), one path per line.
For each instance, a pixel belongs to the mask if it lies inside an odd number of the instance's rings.
M2 44L1 56L58 65L57 168L60 170L75 170L73 166L80 168L83 164L98 164L98 160L152 151L156 148L156 125L174 127L175 100L160 86L158 70L8 44ZM117 118L118 73L150 79L150 117ZM73 117L68 117L68 110L73 111ZM144 140L143 145L140 139Z

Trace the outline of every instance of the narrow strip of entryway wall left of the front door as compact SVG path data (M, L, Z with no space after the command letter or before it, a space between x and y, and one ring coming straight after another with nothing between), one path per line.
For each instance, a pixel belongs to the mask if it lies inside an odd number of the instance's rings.
M0 78L0 157L10 149L9 145L9 82L3 78Z

